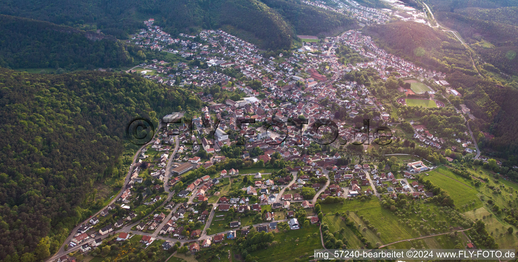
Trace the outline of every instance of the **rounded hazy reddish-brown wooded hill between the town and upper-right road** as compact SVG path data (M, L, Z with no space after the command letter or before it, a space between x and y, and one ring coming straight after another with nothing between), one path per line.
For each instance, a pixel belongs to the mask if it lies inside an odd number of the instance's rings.
M379 47L417 65L431 66L442 72L459 70L468 74L477 73L461 43L453 36L427 25L394 22L367 26L363 31L373 37Z

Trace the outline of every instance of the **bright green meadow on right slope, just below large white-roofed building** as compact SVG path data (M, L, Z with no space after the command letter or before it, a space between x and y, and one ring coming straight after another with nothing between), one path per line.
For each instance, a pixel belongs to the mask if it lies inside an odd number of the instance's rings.
M469 209L482 207L482 202L478 196L479 191L471 185L469 180L465 181L464 177L452 173L445 166L440 166L426 173L429 176L424 177L424 179L430 180L436 186L447 191L453 198L456 207L461 208L461 210L463 209L462 206L466 204L469 205Z

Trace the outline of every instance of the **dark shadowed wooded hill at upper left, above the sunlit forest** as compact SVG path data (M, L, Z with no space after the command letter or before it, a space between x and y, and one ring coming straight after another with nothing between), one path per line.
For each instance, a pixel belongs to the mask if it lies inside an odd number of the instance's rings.
M0 66L10 68L94 68L133 64L124 44L26 18L0 15Z

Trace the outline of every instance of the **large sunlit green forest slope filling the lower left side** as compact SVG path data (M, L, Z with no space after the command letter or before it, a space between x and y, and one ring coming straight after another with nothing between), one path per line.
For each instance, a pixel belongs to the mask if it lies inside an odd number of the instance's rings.
M0 259L5 261L45 257L49 250L36 248L45 236L55 252L89 209L104 205L94 201L93 188L126 174L135 149L124 138L128 121L141 116L156 123L178 106L201 103L184 89L96 71L29 74L0 68L0 93Z

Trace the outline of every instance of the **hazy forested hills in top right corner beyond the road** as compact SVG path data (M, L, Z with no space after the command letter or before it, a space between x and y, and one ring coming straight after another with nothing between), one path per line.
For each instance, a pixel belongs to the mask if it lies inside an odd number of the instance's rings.
M518 74L518 1L430 0L436 19L459 34L482 59L508 74ZM474 44L487 41L494 45Z

